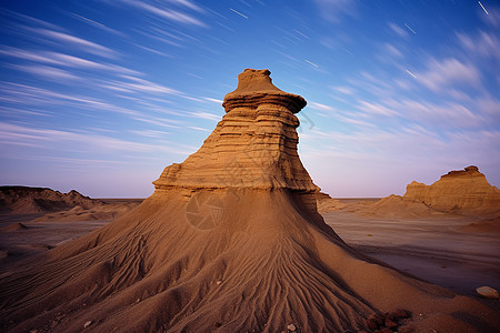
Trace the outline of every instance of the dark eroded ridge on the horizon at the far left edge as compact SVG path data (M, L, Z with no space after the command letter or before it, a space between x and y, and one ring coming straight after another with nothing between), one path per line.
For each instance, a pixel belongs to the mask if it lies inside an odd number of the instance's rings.
M46 188L0 186L0 206L14 214L56 212L76 205L90 208L98 203L74 190L61 193Z

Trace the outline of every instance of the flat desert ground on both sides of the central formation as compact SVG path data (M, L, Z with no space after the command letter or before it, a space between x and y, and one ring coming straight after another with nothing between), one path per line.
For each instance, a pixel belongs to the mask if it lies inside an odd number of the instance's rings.
M339 199L346 206L322 213L327 224L359 252L408 274L456 293L482 299L476 289L500 287L500 242L496 232L470 232L478 218L438 214L393 218L366 213L378 198ZM132 209L141 199L101 199L109 211L117 204ZM121 206L120 205L120 206ZM93 209L96 213L96 209ZM53 215L53 214L48 214ZM23 259L53 249L108 224L111 220L83 220L81 213L59 219L39 214L0 213L0 273ZM44 220L44 221L43 221ZM500 309L498 301L482 299Z

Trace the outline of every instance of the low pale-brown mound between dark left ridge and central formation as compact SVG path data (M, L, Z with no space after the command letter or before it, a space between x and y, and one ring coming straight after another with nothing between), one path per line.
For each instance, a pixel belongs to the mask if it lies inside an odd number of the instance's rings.
M93 220L114 220L121 215L130 212L132 209L139 205L138 202L128 203L100 203L96 204L90 209L77 205L68 211L57 212L46 214L41 218L36 219L33 222L47 222L47 221L93 221Z

